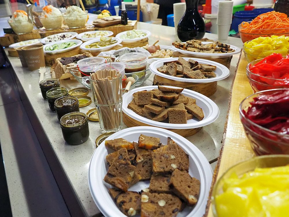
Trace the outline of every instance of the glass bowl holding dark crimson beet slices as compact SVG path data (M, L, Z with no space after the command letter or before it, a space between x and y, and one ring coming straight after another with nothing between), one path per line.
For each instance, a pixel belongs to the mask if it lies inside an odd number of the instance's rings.
M239 114L241 123L243 124L245 133L250 141L251 148L256 155L289 154L289 135L278 133L255 124L245 117L243 113L248 111L248 107L251 106L250 102L254 101L255 97L260 95L271 95L280 90L288 89L260 91L248 96L240 103Z

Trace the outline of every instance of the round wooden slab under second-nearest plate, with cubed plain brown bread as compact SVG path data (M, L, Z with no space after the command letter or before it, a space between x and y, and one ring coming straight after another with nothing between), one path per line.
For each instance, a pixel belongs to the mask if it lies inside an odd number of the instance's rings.
M152 125L149 125L149 124L144 124L140 121L137 121L131 117L129 117L128 115L126 115L124 112L123 112L123 123L125 123L125 125L127 127L135 127L135 126L152 126ZM155 127L155 126L154 126ZM170 130L174 133L177 133L183 137L188 137L188 136L192 136L196 133L198 133L202 127L199 127L199 128L191 128L191 129L168 129L168 128L164 128L166 130Z

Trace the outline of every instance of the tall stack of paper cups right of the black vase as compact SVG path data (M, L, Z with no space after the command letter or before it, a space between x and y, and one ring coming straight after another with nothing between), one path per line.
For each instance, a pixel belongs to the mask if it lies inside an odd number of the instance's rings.
M232 14L233 14L233 1L219 1L218 3L218 39L226 40L229 35Z

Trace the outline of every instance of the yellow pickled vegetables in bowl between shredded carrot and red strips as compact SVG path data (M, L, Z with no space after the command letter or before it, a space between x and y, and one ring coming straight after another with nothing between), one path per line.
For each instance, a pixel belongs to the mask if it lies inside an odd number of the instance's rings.
M251 61L262 59L273 53L289 54L289 36L259 37L244 43L244 52Z

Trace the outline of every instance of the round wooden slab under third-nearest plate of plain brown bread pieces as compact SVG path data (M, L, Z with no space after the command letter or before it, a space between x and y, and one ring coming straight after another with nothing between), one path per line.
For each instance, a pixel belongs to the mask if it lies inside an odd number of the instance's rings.
M158 75L154 76L153 85L167 85L167 86L186 88L186 89L201 93L208 97L213 95L217 91L217 81L210 82L210 83L195 84L195 83L175 81L175 80L171 80L168 78L163 78Z

